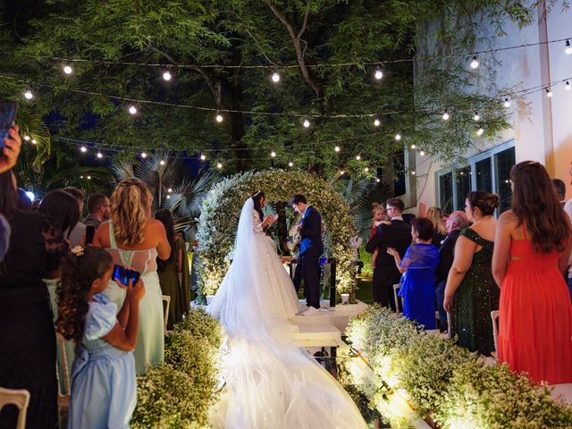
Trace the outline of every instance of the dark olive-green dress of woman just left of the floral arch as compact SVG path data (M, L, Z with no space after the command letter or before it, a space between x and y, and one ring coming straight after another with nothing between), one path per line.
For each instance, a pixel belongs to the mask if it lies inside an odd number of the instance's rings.
M181 267L178 266L180 252ZM157 269L157 273L163 294L171 297L167 329L172 330L173 324L181 322L183 315L188 314L190 310L189 259L185 242L181 238L175 241L172 259L169 259L163 268Z

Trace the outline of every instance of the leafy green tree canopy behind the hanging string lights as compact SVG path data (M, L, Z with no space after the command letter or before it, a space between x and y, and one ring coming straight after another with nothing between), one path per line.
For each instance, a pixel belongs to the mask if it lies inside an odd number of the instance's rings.
M76 140L87 140L122 159L184 150L224 172L292 163L326 177L374 172L410 144L453 159L471 145L477 110L485 136L507 127L500 99L467 90L466 64L418 67L419 29L436 21L443 55L458 55L475 46L477 18L501 31L534 16L534 5L492 0L15 3L1 10L0 93L21 99L36 164L55 141L79 157ZM378 62L382 80L368 65ZM456 110L450 122L443 106Z

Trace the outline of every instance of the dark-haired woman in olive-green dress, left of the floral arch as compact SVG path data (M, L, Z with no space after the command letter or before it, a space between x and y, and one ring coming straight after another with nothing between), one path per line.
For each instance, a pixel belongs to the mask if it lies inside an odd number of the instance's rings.
M167 260L157 258L157 273L164 295L171 297L167 329L182 321L190 311L189 259L185 242L176 237L170 210L161 208L156 211L155 218L163 223L167 240L171 245L171 256Z

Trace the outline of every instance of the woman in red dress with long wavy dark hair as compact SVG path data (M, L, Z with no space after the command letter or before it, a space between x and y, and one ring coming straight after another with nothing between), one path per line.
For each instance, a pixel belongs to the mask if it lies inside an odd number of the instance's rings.
M542 164L510 169L511 210L501 214L492 273L501 285L499 362L536 383L572 383L572 306L561 273L572 228Z

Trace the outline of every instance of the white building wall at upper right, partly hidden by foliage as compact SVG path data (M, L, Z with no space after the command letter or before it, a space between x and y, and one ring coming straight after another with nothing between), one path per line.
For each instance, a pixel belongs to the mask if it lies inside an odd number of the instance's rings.
M561 12L557 9L545 14L543 9L539 8L537 20L522 29L508 22L505 27L507 34L502 37L495 37L492 27L483 21L480 38L483 38L484 42L475 46L475 51L536 44L559 38L570 38L572 43L572 12ZM425 46L419 46L417 55L439 55L429 29L425 40ZM479 58L481 65L475 71L477 87L481 85L479 89L491 96L498 94L497 89L491 88L488 83L484 87L483 76L491 72L491 67L496 69L496 87L512 88L513 91L548 87L551 82L572 77L572 55L566 55L564 47L564 42L560 42L482 55ZM492 55L501 64L495 63ZM551 89L551 98L546 97L545 91L541 90L521 97L520 100L524 103L517 104L515 100L510 100L508 121L512 128L503 131L493 141L477 139L479 149L466 156L473 156L514 139L517 163L534 160L544 164L551 177L559 178L567 184L567 197L572 198L572 185L568 175L572 162L572 90L566 91L563 83ZM410 164L411 168L415 164L416 174L410 175L409 180L416 181L416 208L418 213L423 215L428 207L438 206L436 172L445 166L437 160L428 159L427 156L419 156L418 153L413 159ZM415 206L415 200L412 200L412 206Z

